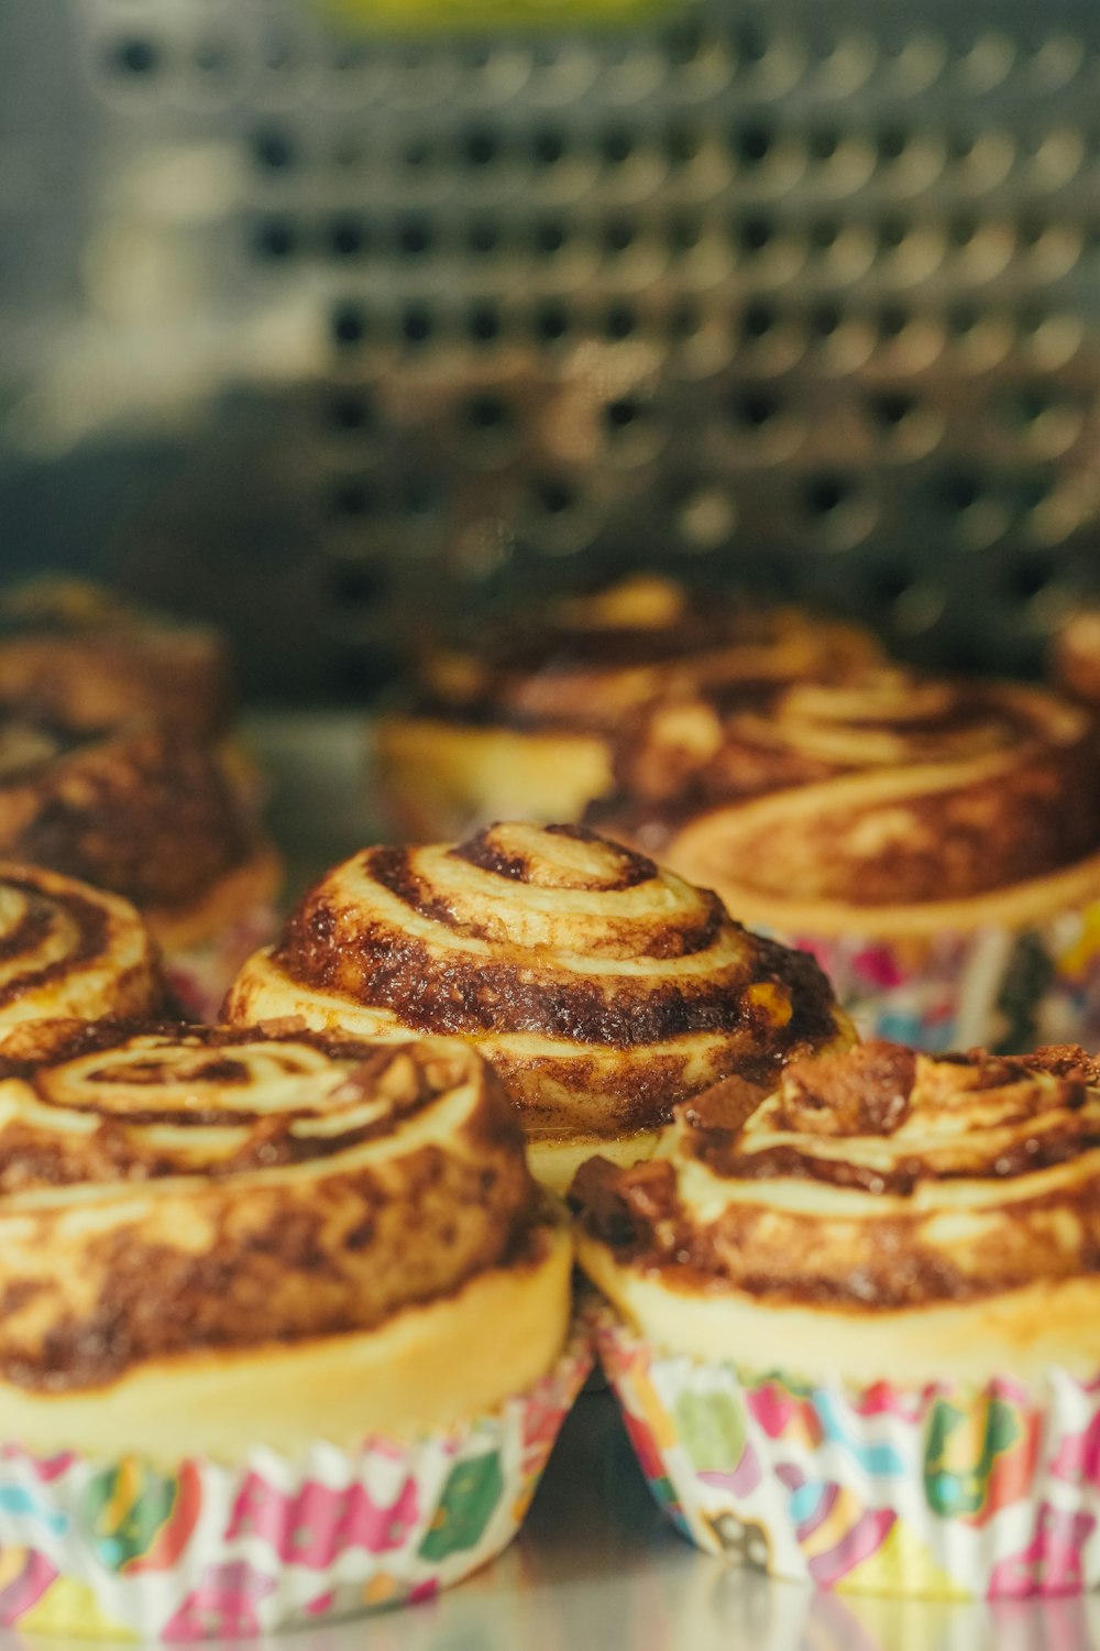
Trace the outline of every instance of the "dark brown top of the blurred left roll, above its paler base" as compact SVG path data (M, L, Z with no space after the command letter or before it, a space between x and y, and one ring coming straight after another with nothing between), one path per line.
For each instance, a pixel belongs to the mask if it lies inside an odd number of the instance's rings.
M124 895L160 934L193 930L219 885L272 859L228 764L152 721L0 721L0 854Z

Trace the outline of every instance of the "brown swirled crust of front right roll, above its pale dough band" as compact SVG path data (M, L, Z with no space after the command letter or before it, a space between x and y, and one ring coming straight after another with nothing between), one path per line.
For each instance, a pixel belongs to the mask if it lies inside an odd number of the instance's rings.
M1100 1273L1100 1091L1034 1062L869 1043L732 1129L681 1108L661 1152L589 1164L574 1199L673 1291L859 1316Z

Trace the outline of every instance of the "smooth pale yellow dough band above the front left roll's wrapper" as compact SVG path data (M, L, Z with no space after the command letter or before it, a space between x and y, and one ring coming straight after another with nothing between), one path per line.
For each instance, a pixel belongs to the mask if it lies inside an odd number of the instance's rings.
M165 1354L94 1388L0 1380L0 1433L43 1456L137 1455L173 1468L186 1456L239 1463L262 1446L297 1458L318 1440L358 1451L366 1435L468 1426L554 1365L571 1271L569 1232L548 1213L505 1265L369 1331Z

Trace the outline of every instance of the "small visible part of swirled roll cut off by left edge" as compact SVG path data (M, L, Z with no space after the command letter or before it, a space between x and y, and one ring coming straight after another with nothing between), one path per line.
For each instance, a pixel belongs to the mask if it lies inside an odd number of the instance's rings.
M0 862L0 1040L46 1015L152 1015L163 1009L148 930L117 895L41 867Z

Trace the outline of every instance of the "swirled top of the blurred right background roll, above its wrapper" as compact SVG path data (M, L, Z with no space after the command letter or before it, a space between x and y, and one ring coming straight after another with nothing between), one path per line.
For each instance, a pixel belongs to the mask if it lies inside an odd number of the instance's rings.
M1088 718L1041 688L904 669L732 708L670 698L625 736L618 797L590 819L749 921L757 903L960 901L1100 849L1088 740Z

